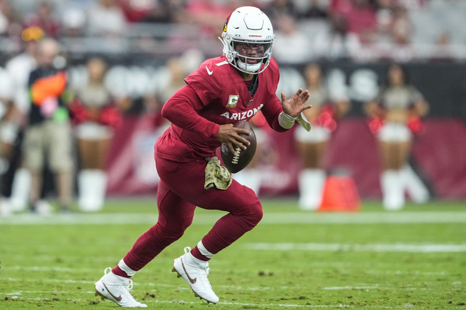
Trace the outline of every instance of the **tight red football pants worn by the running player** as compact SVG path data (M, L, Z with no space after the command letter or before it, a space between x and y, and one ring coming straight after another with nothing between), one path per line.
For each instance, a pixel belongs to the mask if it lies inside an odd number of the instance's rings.
M155 163L160 176L157 190L159 217L124 257L131 269L141 269L178 240L191 225L196 206L229 212L202 238L204 247L213 254L231 245L261 220L262 205L249 187L233 180L226 190L204 189L207 161L178 163L156 157Z

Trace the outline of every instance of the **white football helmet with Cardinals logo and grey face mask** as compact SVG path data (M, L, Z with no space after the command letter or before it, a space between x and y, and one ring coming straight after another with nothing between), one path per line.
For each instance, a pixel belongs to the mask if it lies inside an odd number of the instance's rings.
M272 23L264 12L252 6L237 8L228 16L220 39L228 62L249 74L258 74L266 69L274 40ZM248 56L247 49L255 50L256 54Z

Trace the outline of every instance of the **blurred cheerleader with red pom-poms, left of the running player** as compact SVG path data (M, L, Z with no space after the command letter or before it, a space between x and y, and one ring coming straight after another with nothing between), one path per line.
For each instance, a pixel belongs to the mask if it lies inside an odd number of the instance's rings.
M88 82L76 90L69 105L78 142L80 171L78 205L83 211L102 209L107 188L105 160L113 137L113 126L121 116L103 83L107 64L100 58L87 62Z

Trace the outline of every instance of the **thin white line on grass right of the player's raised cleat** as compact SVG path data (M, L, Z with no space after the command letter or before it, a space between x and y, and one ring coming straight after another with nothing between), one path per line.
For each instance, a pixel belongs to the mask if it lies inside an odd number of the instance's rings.
M466 252L466 244L411 244L411 243L248 243L245 248L268 251L344 251L344 252L408 252L439 253Z

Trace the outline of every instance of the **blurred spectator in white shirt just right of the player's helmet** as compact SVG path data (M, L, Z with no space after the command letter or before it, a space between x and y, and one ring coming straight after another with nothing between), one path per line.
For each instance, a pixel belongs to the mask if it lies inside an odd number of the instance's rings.
M312 56L312 46L309 38L298 30L295 20L288 15L278 19L278 29L275 30L275 42L272 55L279 63L299 63L307 61Z

